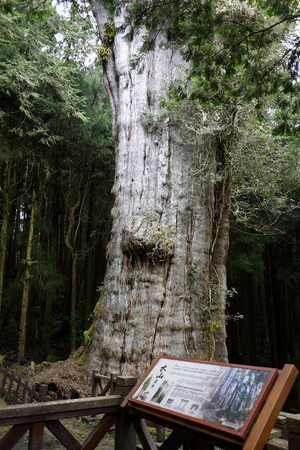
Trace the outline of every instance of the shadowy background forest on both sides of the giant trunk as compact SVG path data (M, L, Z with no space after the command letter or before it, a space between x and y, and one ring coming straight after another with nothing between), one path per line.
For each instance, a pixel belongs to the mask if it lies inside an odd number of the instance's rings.
M36 362L67 358L91 325L114 178L101 64L87 64L92 23L76 4L61 16L45 3L0 5L0 353ZM191 104L173 100L184 121ZM236 154L228 350L230 362L299 368L299 128L274 108Z

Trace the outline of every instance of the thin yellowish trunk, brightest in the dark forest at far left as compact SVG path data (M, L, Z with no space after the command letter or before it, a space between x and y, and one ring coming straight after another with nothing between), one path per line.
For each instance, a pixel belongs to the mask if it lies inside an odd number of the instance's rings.
M32 240L33 240L33 234L34 234L34 221L35 221L35 200L36 200L36 194L35 194L35 191L33 191L32 199L31 199L32 204L31 204L31 211L30 211L30 222L29 222L28 241L27 241L27 250L26 250L26 261L25 261L25 272L24 272L24 277L23 277L23 294L22 294L20 333L19 333L19 346L18 346L19 357L21 360L25 356L26 322L27 322L29 287L30 287Z

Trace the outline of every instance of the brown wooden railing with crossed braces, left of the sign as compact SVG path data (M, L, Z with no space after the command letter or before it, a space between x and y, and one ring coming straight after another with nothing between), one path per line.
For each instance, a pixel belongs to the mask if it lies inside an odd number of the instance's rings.
M0 409L0 427L12 425L12 428L0 440L0 450L12 449L27 431L29 431L28 448L42 450L45 427L69 450L92 450L97 447L114 424L116 424L115 448L125 448L122 442L125 442L126 422L123 420L120 404L135 383L135 378L118 377L116 395L32 403ZM103 414L103 417L83 443L78 442L61 422L61 419L98 414ZM133 439L135 440L135 432L131 433L128 442L130 443ZM135 445L128 448L135 449Z

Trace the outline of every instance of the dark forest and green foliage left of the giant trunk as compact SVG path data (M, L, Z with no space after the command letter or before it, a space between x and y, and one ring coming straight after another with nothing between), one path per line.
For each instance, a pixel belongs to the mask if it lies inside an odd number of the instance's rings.
M48 0L0 5L0 351L17 349L27 268L25 354L36 360L68 356L72 301L80 344L103 279L110 228L111 113L101 70L85 67L92 25L77 12L74 5L61 17ZM71 255L65 238L78 198Z

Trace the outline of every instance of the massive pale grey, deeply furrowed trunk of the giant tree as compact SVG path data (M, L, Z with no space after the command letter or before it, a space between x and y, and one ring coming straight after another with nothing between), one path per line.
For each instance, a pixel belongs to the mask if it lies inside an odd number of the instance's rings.
M105 1L92 4L106 42ZM115 18L117 27L123 16ZM186 70L178 49L160 46L160 36L139 73L130 62L141 35L131 42L123 36L116 34L104 62L116 143L115 206L93 337L86 334L88 367L140 374L162 351L224 361L228 202L222 192L229 194L192 176L202 153L216 173L219 143L196 148L161 114L162 96Z

